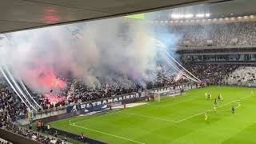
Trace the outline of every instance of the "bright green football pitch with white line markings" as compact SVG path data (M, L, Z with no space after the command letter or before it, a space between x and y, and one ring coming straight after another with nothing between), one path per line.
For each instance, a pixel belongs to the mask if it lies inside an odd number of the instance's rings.
M175 98L162 98L161 102L108 114L62 119L50 125L111 144L256 143L256 96L252 91L256 89L209 86ZM211 100L206 100L206 92L212 94ZM223 100L218 101L214 112L214 98L219 93ZM239 99L241 106L238 106ZM235 106L234 114L231 113L232 105Z

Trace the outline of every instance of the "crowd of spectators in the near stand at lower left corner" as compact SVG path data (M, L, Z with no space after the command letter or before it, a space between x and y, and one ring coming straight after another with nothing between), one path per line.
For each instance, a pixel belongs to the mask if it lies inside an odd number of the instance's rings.
M32 130L22 128L12 122L15 116L26 114L26 106L22 103L16 94L5 84L0 84L0 128L9 130L15 134L20 134L26 138L33 139L34 141L50 144L63 143L57 138L50 138L43 134L36 133ZM1 142L0 142L1 143ZM8 143L8 142L5 142Z

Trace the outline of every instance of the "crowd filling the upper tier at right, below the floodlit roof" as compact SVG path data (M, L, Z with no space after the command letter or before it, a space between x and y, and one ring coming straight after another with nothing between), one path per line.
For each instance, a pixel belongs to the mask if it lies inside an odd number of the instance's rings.
M211 46L251 46L256 44L255 22L172 26L170 32L181 35L180 46L207 46L207 40L212 40Z

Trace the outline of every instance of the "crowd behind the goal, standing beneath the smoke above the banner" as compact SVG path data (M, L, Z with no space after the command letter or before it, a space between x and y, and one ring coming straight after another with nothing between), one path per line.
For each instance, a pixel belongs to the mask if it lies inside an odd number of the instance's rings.
M99 98L110 98L116 95L129 94L139 92L142 90L149 90L153 88L159 88L164 86L178 85L179 83L189 82L186 78L175 78L174 70L169 70L164 66L158 66L157 74L149 72L149 80L139 83L132 80L132 78L126 78L122 75L116 75L112 78L98 78L100 80L100 86L89 86L84 81L78 78L74 78L65 95L57 96L58 102L52 102L47 98L43 98L39 95L39 103L43 109L49 109L58 106L66 106L72 103L94 101ZM53 92L51 92L53 95Z

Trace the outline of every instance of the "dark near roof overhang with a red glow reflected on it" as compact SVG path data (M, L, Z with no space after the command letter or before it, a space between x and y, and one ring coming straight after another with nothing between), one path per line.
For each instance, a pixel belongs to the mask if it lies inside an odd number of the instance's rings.
M0 33L218 0L0 0Z

